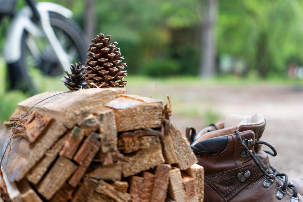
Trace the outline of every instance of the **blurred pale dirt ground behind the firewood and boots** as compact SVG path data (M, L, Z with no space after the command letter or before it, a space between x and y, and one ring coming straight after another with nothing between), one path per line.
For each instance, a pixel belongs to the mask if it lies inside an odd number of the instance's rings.
M156 82L145 86L130 84L127 94L149 96ZM181 85L180 85L181 86ZM271 165L289 177L303 178L303 90L283 85L215 85L175 86L161 84L153 98L172 104L171 120L185 132L187 126L200 130L205 126L205 111L217 114L218 121L228 114L260 113L266 119L261 140L273 145L278 155L270 157ZM0 127L0 132L3 129ZM268 150L266 146L264 149Z

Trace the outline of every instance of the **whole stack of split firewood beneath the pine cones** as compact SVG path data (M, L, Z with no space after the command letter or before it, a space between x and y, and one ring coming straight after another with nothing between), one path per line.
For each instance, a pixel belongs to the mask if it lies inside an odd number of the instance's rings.
M0 201L202 201L203 167L167 105L124 92L85 89L35 105L55 94L42 93L19 103L0 136Z

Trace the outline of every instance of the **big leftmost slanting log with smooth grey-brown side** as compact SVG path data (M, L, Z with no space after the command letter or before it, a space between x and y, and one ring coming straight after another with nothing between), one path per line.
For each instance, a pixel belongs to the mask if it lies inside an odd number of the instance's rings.
M8 150L5 152L2 166L10 181L20 181L25 174L44 156L45 152L57 142L65 133L66 128L61 123L54 121L45 134L34 145L25 138L12 138ZM7 128L0 137L0 156L4 154L12 129Z

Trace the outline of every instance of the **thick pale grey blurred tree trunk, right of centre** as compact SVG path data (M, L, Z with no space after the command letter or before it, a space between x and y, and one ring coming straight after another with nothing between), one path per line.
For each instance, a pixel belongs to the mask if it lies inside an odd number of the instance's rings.
M211 77L215 73L215 21L217 17L217 0L205 0L202 21L202 50L200 76Z

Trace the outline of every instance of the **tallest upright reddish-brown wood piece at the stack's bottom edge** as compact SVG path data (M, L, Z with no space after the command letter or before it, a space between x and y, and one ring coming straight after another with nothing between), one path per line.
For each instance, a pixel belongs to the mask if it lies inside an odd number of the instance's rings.
M155 169L155 183L151 195L151 202L164 202L167 194L169 171L171 165L161 164Z

